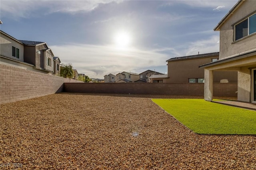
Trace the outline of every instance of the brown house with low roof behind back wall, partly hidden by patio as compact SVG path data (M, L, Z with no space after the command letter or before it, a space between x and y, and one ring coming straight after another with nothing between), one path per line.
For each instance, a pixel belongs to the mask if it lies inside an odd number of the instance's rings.
M168 62L168 83L204 83L204 70L198 66L218 61L219 53L206 53L175 57L167 60ZM214 72L213 82L237 82L237 72L218 71Z

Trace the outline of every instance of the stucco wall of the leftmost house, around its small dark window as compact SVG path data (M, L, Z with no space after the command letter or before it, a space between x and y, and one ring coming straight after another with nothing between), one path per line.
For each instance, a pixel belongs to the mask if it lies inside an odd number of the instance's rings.
M12 57L12 46L20 49L20 58ZM24 61L24 46L22 43L0 33L0 54L18 61Z

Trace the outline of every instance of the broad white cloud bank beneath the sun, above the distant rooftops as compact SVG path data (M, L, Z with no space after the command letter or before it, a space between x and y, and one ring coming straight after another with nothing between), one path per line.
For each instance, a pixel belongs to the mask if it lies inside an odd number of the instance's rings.
M168 55L131 48L116 49L110 45L71 44L50 47L62 63L72 63L79 73L103 78L105 74L117 74L124 70L136 72L140 68L164 66Z

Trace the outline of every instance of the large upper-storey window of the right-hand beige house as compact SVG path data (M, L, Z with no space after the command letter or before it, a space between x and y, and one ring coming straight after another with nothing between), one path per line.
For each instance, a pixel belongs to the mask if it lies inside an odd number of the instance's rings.
M235 40L256 32L256 14L235 25Z

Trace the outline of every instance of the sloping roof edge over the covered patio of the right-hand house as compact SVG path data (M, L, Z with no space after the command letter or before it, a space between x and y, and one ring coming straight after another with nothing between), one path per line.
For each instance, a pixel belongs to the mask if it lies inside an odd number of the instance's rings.
M205 68L205 67L208 67L208 66L214 66L214 65L217 65L217 64L227 63L227 62L230 62L230 61L243 59L243 58L250 57L250 56L253 56L253 55L256 55L256 50L249 51L249 52L246 52L246 53L243 53L243 54L234 55L232 57L217 60L217 61L214 61L214 62L211 62L211 63L203 64L203 65L200 65L199 68Z

